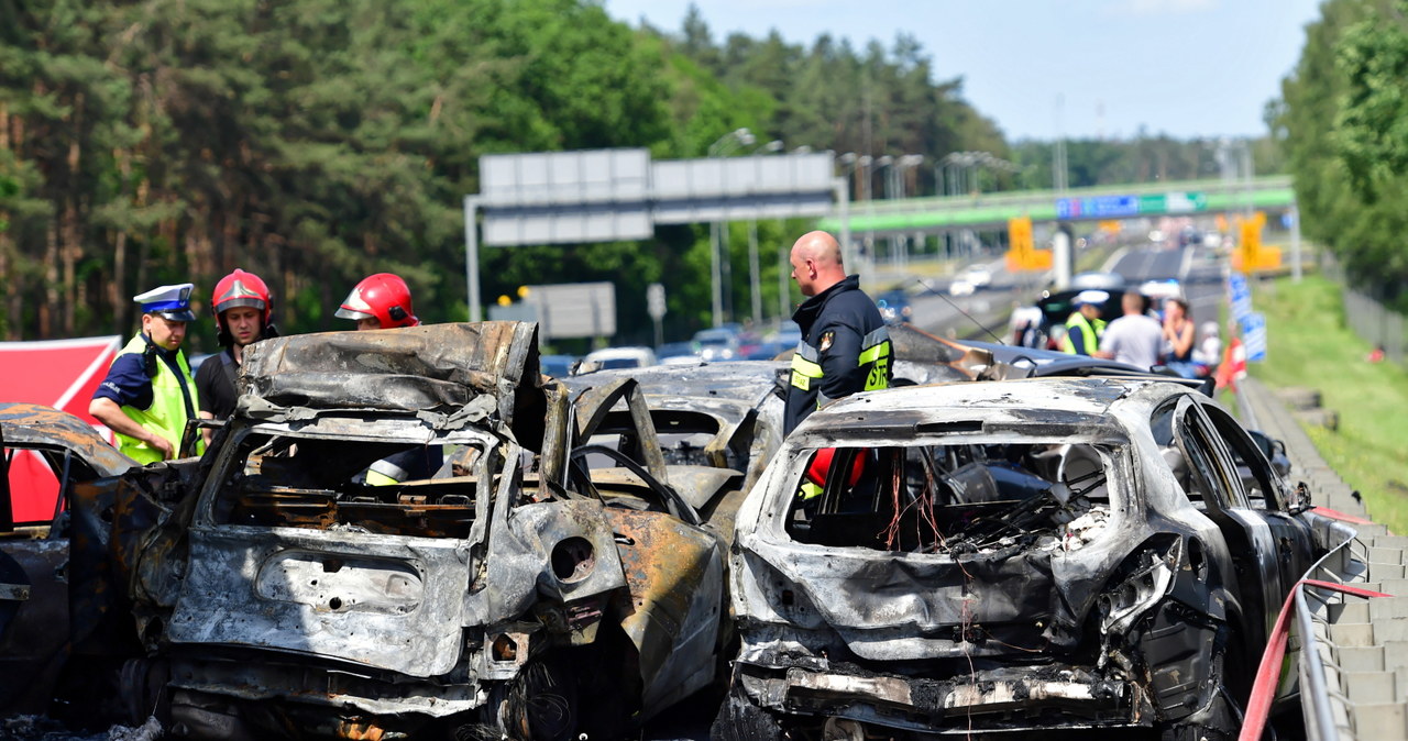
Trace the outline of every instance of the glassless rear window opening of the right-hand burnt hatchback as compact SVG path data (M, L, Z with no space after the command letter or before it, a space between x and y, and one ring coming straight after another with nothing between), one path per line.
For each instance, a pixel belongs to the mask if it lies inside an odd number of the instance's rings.
M1076 550L1108 520L1118 449L1067 440L807 451L787 533L904 553Z

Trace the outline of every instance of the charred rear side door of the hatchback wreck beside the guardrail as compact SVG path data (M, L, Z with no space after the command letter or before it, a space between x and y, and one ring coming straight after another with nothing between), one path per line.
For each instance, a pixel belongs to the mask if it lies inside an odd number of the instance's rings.
M1201 498L1207 515L1218 524L1232 553L1247 645L1263 645L1276 623L1281 596L1281 572L1277 568L1276 539L1266 519L1252 509L1236 465L1191 395L1184 395L1174 411L1174 442L1188 461L1190 498ZM1197 501L1197 499L1195 499Z

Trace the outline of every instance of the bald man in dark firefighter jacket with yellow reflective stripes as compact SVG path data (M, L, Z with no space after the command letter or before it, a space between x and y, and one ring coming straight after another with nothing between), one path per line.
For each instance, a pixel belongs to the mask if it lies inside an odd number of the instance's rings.
M791 266L793 280L808 298L793 314L801 342L787 387L788 433L832 399L888 388L893 374L884 319L860 290L859 276L846 276L836 239L826 232L803 235L793 245Z

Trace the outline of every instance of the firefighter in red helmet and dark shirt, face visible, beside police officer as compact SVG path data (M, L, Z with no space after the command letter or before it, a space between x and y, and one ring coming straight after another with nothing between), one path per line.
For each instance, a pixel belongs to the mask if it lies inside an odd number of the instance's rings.
M269 323L272 309L269 287L253 273L237 267L215 284L210 311L215 315L215 339L225 349L196 371L201 419L228 419L235 411L235 375L245 360L245 347L279 336Z

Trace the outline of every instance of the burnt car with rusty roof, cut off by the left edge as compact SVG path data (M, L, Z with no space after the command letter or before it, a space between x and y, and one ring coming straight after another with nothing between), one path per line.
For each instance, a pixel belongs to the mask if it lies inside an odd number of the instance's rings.
M62 693L73 638L69 588L86 584L69 571L63 503L80 488L89 496L110 491L138 464L82 419L37 404L0 404L0 709L37 714ZM18 502L48 515L17 517Z

